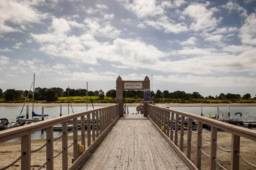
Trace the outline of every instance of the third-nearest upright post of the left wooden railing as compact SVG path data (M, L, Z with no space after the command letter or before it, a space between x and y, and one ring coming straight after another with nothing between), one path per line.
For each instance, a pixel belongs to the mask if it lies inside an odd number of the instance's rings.
M68 169L68 122L62 122L62 170Z

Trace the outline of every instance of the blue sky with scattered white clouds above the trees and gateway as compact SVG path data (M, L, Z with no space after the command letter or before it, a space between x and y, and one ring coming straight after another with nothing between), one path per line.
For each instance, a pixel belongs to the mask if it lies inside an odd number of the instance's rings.
M0 88L148 76L155 92L255 97L255 28L256 0L1 0Z

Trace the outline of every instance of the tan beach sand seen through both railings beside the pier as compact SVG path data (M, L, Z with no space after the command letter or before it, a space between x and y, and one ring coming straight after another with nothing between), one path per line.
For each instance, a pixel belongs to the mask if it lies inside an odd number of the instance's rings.
M203 131L203 136L210 139L211 133L208 131ZM185 131L184 137L187 137L187 131ZM85 138L86 139L86 138ZM196 144L196 135L192 134L192 143ZM225 149L231 149L231 134L226 132L218 132L218 143ZM71 144L73 142L72 137L68 137L68 144ZM31 141L31 150L37 149L40 146L42 146L45 143L45 139L40 140L32 140ZM86 142L87 143L87 142ZM179 144L179 142L178 142ZM210 154L210 142L205 141L202 139L202 149L207 154ZM97 145L96 145L97 147ZM184 141L184 153L186 154L186 147L187 143ZM61 139L54 141L53 146L54 153L53 155L56 155L61 151ZM195 162L196 158L196 149L194 146L191 146L191 161L193 163ZM3 166L6 166L12 162L12 160L15 160L20 156L20 142L4 142L0 144L0 153L1 153L1 162L0 162L0 168ZM71 165L71 159L73 158L73 146L68 149L68 165ZM241 137L240 140L240 154L244 156L245 159L249 160L253 164L256 164L256 146L255 142L245 139ZM41 165L45 162L45 148L40 150L39 152L35 152L31 154L31 169L38 169ZM59 170L62 169L62 155L60 154L58 157L54 159L54 169ZM223 152L219 148L217 148L217 159L220 162L221 165L226 167L227 169L230 169L230 153ZM201 169L209 169L209 158L206 157L202 153L202 168ZM216 166L217 169L220 169L219 166ZM20 169L20 161L18 161L15 166L10 167L10 169L18 170ZM46 168L42 168L46 169ZM252 166L249 166L248 164L244 163L243 160L240 159L240 169L255 169Z

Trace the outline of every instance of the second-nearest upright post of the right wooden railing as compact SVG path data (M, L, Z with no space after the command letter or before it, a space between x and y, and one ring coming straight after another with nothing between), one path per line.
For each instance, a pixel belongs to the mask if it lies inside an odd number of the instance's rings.
M214 140L217 142L217 131L218 131L218 128L214 126L211 127L210 170L216 169L216 162L213 160L213 158L217 160L216 158L217 145L214 142Z

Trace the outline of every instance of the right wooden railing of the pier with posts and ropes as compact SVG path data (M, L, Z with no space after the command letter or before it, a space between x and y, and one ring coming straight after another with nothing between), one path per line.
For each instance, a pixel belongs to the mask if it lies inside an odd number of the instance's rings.
M174 118L175 115L175 118ZM164 107L158 107L148 104L148 118L155 125L162 136L177 152L180 158L187 164L190 169L201 169L201 154L209 157L209 169L215 170L216 165L223 167L217 159L217 147L223 152L231 152L231 166L230 169L239 169L239 160L245 161L250 166L254 164L247 161L239 154L240 151L240 137L247 138L252 141L256 141L256 131L252 129L246 129L231 125L225 122L205 118L203 116L189 114L177 110L172 110ZM179 117L181 120L179 121ZM185 117L188 118L188 124L185 126ZM197 121L197 132L192 130L192 121ZM203 123L211 126L211 139L207 139L203 136ZM178 125L178 126L177 126ZM180 130L179 130L180 126ZM187 129L187 138L184 137L184 130ZM224 149L217 143L217 131L221 129L232 134L231 150ZM196 141L192 141L192 133L196 134ZM202 150L202 138L210 142L210 155ZM173 140L174 139L174 140ZM180 143L178 144L178 139ZM187 153L183 153L183 143L187 141ZM178 147L179 146L179 147ZM191 161L191 146L196 148L196 165ZM226 146L228 147L228 146Z

